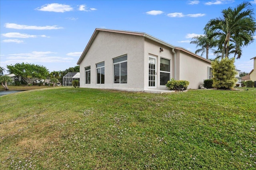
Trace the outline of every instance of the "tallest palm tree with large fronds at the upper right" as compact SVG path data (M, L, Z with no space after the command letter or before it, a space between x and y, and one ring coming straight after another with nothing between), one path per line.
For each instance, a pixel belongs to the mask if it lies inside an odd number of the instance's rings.
M242 55L240 49L253 41L256 30L256 22L250 2L243 2L236 8L222 10L222 18L215 18L206 24L206 29L210 29L219 40L218 49L222 51L222 59L228 57L230 52L230 41L236 45L237 58ZM239 54L240 53L240 54Z

